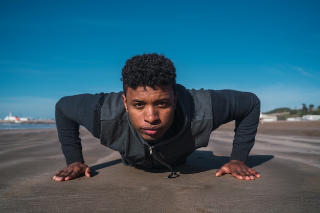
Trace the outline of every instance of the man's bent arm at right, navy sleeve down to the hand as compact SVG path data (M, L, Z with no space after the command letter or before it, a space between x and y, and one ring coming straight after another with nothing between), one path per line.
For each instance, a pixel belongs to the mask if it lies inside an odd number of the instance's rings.
M260 100L253 93L233 90L214 91L214 129L235 120L235 138L230 162L222 166L216 176L232 174L238 179L254 179L259 173L245 165L247 156L254 146L259 124ZM213 129L213 130L214 130Z

